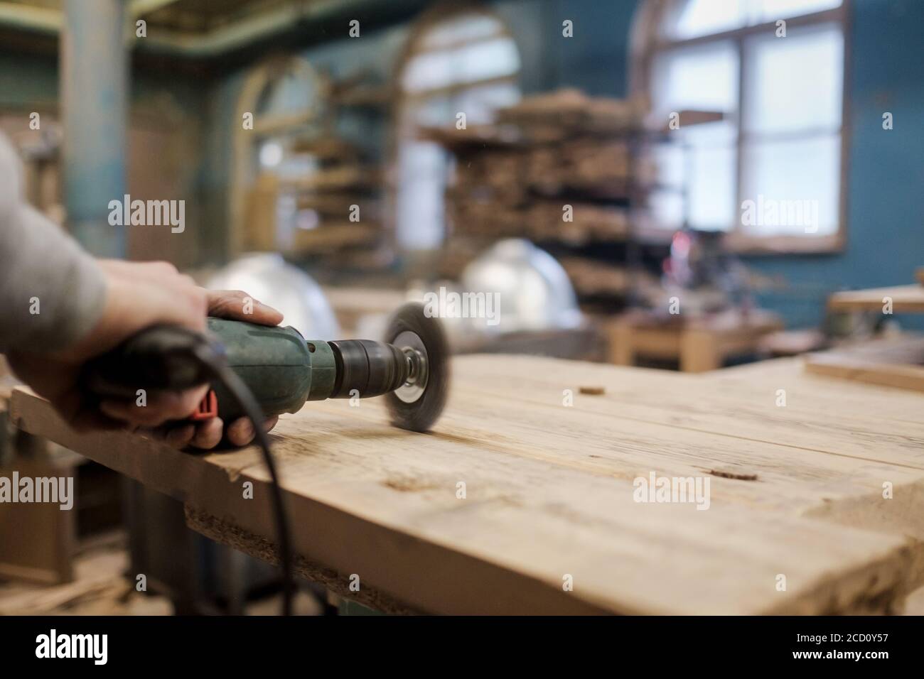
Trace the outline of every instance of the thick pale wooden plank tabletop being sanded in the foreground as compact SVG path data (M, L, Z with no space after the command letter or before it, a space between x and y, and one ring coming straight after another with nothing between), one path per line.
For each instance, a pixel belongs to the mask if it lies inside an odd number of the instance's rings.
M686 374L465 356L453 370L430 434L390 427L379 399L280 420L300 574L383 611L438 613L898 612L924 584L922 394L796 358ZM11 416L274 560L255 447L79 434L26 390ZM708 509L636 502L651 474L708 479Z

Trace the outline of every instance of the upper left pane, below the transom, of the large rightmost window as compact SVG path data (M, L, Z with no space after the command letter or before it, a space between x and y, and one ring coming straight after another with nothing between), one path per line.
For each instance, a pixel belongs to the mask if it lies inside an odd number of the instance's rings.
M662 53L651 75L652 106L665 121L684 108L736 112L738 59L731 42Z

